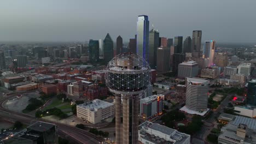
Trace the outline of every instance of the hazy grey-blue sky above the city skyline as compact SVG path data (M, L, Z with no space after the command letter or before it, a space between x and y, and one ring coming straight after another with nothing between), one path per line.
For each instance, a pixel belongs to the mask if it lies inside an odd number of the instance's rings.
M2 0L0 41L128 41L142 14L160 37L256 43L256 0Z

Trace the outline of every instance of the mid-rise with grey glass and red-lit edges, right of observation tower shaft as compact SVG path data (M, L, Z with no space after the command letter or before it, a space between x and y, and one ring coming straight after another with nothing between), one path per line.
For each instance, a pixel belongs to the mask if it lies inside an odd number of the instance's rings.
M164 109L165 95L158 94L143 98L139 103L139 116L143 119L151 119L155 116L162 115Z

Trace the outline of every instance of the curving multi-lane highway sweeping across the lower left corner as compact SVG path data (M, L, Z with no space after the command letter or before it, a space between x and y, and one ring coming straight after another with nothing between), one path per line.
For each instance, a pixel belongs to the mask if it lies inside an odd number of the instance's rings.
M8 99L12 99L15 96L3 98L0 100L0 116L5 120L9 122L15 122L20 121L24 124L31 124L35 121L43 121L43 122L49 122L54 123L57 125L57 134L58 135L67 135L68 137L72 138L73 141L76 143L84 143L84 144L95 144L95 143L101 143L103 140L99 137L95 136L94 134L89 133L86 130L78 129L75 127L72 127L71 125L66 125L58 122L51 122L46 121L45 119L37 119L35 117L32 117L30 115L26 115L24 113L18 113L14 111L7 110L3 107L3 103L7 101Z

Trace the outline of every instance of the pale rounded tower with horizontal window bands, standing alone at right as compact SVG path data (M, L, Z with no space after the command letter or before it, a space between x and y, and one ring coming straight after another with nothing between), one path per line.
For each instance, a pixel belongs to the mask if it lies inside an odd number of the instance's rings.
M206 111L208 105L209 81L187 77L186 107L193 111Z

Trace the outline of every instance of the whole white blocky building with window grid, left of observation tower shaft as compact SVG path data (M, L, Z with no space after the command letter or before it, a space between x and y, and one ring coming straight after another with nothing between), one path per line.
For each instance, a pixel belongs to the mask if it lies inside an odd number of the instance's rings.
M88 103L77 105L77 117L96 124L103 119L114 116L114 104L95 99Z

